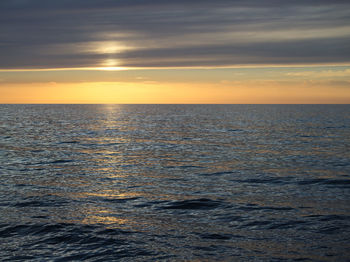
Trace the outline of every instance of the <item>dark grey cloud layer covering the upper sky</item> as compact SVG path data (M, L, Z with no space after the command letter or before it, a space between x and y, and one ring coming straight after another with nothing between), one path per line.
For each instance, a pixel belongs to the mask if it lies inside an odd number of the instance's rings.
M349 63L348 1L2 0L0 68Z

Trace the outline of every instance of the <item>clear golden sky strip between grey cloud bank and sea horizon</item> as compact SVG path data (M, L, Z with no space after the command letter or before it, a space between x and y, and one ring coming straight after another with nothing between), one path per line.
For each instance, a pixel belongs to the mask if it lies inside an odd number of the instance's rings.
M0 72L1 103L349 103L350 67Z

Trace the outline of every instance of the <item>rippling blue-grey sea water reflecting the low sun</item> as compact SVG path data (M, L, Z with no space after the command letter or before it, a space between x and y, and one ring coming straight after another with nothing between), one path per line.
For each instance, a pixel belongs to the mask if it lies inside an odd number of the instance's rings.
M349 105L1 105L3 261L348 261Z

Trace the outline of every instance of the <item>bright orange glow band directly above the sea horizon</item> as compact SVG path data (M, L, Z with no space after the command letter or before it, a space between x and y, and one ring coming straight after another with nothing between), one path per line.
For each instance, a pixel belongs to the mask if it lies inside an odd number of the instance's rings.
M15 83L0 86L0 103L344 104L348 89L277 81Z

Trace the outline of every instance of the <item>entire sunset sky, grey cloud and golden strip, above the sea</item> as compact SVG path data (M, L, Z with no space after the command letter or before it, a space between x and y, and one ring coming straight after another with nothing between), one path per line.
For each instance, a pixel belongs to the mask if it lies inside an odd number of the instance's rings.
M350 103L350 1L1 0L0 103Z

